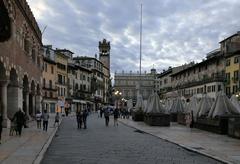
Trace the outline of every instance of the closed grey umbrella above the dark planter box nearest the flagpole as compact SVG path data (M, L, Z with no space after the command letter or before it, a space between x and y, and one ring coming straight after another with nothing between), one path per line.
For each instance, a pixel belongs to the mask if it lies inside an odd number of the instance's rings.
M154 93L149 97L146 113L150 114L165 113L165 109L160 103L160 99L157 93Z

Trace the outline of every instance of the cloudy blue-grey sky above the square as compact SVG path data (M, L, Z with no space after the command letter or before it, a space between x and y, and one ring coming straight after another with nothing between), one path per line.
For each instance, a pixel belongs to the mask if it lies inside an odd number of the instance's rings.
M140 4L143 4L142 69L201 61L219 41L240 31L239 0L27 0L43 30L43 44L94 56L111 42L111 72L139 69Z

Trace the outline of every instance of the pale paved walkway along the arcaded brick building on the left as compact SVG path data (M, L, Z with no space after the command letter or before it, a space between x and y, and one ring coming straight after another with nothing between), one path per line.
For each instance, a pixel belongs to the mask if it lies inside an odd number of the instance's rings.
M23 128L22 136L9 136L9 129L3 129L2 144L0 144L1 164L32 164L37 163L44 145L57 130L53 127L54 115L50 115L48 131L37 129L35 121Z

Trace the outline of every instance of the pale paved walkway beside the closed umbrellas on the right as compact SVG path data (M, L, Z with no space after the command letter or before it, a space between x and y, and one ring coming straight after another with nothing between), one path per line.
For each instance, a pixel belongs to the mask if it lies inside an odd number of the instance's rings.
M122 123L187 149L228 163L240 163L240 140L172 123L170 127L153 127L144 122L121 119Z

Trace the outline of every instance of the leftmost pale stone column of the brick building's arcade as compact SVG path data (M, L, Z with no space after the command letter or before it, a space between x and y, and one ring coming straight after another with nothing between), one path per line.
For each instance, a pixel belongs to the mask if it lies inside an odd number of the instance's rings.
M10 120L7 117L7 80L0 81L1 110L3 115L3 127L10 127Z

